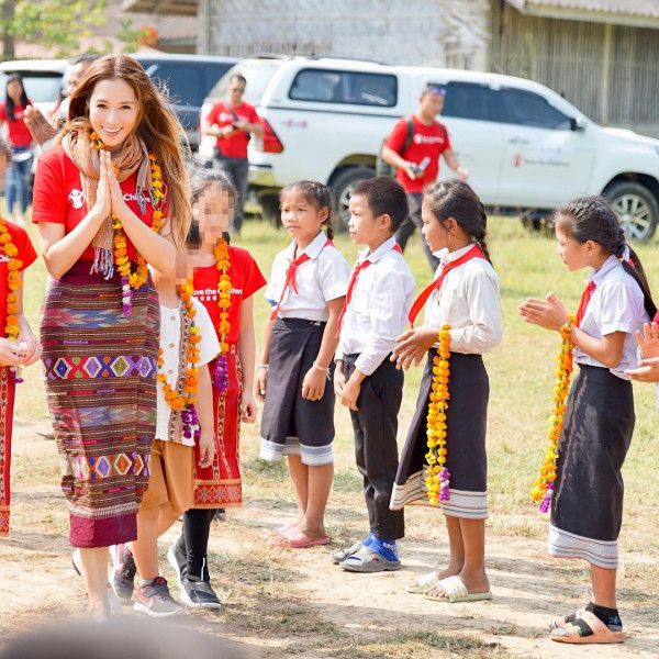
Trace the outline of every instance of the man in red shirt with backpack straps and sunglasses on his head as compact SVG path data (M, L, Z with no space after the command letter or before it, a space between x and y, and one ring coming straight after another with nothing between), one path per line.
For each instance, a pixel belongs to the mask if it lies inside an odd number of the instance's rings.
M414 228L417 226L421 230L423 226L421 220L423 189L437 179L439 157L444 155L446 164L455 169L462 180L469 176L469 171L460 165L450 146L446 126L435 120L444 109L445 96L446 90L443 87L428 82L418 99L418 111L411 118L413 132L410 146L403 153L409 125L409 120L405 118L393 126L382 146L382 159L396 168L395 178L407 192L410 215L395 234L395 239L403 250ZM433 256L425 241L423 246L435 271L439 259Z

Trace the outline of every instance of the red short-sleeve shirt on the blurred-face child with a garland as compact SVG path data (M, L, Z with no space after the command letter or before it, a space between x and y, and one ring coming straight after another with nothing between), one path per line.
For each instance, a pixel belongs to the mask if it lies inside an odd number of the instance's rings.
M228 322L231 330L226 343L237 344L241 334L241 303L250 298L256 291L266 286L266 279L259 270L256 261L246 249L228 247L228 259L231 266L231 305L228 308ZM220 282L220 270L217 267L206 266L194 268L193 284L194 297L205 306L215 330L220 324L220 306L217 306L217 283Z

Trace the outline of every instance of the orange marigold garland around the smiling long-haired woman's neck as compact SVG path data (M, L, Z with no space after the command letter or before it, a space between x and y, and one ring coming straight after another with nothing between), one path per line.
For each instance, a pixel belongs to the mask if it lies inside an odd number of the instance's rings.
M89 138L93 143L97 150L105 148L99 134L93 131ZM148 155L149 166L152 171L152 205L154 209L152 230L155 233L160 231L163 226L163 206L165 205L165 191L163 183L163 170L160 169L156 156L154 154ZM114 171L118 172L116 167ZM118 172L119 174L119 172ZM121 220L115 215L112 215L112 231L113 231L113 247L114 247L114 265L121 276L121 289L122 289L122 309L125 316L131 315L133 290L142 288L148 280L148 270L146 268L146 261L141 254L135 254L135 271L131 272L131 263L126 250L126 237L123 233Z

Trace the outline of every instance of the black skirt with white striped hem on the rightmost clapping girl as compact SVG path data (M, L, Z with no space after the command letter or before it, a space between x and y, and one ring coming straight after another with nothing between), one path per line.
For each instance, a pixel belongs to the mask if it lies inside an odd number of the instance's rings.
M568 398L551 498L548 550L616 569L625 491L621 469L636 415L632 382L579 365Z

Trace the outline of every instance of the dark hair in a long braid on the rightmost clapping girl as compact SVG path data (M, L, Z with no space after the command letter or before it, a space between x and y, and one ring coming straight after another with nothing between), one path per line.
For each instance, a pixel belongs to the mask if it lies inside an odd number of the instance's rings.
M592 241L607 254L618 258L625 272L640 287L646 311L651 319L655 317L657 305L652 300L650 284L640 259L627 245L625 232L606 200L601 197L579 197L560 206L555 213L555 220L556 224L579 244ZM624 258L625 249L629 249L629 261Z

